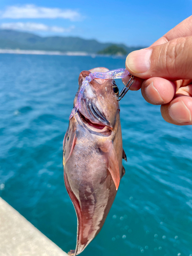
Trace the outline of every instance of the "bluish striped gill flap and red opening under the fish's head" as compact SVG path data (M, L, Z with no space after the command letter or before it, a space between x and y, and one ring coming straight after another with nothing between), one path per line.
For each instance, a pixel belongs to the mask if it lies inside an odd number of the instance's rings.
M104 113L98 109L95 99L84 98L79 114L83 123L85 123L91 130L96 129L101 131L104 127L108 127L112 130L110 122L106 119Z

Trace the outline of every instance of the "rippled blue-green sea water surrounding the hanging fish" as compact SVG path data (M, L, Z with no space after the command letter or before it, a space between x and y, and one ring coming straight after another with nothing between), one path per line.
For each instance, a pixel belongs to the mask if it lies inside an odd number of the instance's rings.
M0 196L65 251L75 249L77 227L63 183L62 140L78 76L124 61L0 55ZM140 91L120 103L126 173L81 255L192 256L192 127L166 123Z

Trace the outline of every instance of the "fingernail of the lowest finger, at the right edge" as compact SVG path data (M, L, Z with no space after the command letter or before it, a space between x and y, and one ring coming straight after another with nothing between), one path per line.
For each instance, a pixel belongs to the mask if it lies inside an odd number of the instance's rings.
M178 101L169 108L170 117L178 123L191 122L191 114L184 102Z

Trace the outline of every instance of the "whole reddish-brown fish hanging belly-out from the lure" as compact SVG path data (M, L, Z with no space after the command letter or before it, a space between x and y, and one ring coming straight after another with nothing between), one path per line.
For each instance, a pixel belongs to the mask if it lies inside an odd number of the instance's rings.
M83 80L106 68L82 71ZM81 109L69 120L63 140L63 169L67 192L77 215L77 241L69 255L81 253L101 230L125 173L118 87L113 79L93 79L81 99Z

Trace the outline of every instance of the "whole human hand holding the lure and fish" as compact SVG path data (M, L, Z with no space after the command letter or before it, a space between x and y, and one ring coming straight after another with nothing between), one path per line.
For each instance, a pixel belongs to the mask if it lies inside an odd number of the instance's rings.
M161 105L165 121L192 124L192 16L152 46L130 53L125 66L136 76L130 90L141 88L147 102Z

